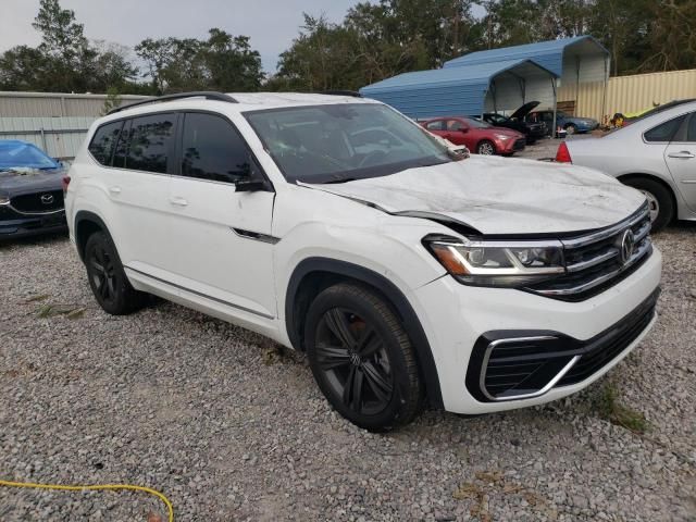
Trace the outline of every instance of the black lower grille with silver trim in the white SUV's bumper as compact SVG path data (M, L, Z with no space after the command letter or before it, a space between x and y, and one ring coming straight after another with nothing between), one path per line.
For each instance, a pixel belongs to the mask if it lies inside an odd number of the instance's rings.
M537 397L577 384L625 350L655 315L659 289L610 328L589 340L558 332L493 332L474 346L467 388L478 400Z

